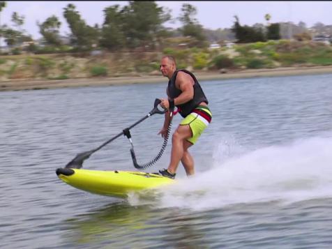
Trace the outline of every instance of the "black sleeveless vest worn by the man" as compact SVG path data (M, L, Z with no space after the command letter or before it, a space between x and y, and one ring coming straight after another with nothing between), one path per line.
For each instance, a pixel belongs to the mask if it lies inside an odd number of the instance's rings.
M187 103L181 104L181 105L176 105L176 107L179 108L179 113L181 116L186 117L190 112L192 112L195 107L199 105L201 102L205 102L206 104L209 104L209 101L207 100L202 87L199 85L195 75L193 73L190 73L188 70L181 69L181 70L176 70L174 74L172 75L172 78L168 82L167 90L169 97L174 99L178 97L182 91L180 89L177 89L175 86L175 80L176 80L176 75L179 73L179 71L188 73L191 77L193 77L193 80L195 81L195 84L193 85L194 87L194 98Z

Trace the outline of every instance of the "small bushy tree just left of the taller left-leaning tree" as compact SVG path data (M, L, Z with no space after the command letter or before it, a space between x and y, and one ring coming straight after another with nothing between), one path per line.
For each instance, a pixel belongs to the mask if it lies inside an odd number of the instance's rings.
M59 36L61 22L59 22L58 17L52 15L51 17L48 17L42 24L37 22L37 25L39 27L40 34L45 39L45 43L49 45L61 45Z

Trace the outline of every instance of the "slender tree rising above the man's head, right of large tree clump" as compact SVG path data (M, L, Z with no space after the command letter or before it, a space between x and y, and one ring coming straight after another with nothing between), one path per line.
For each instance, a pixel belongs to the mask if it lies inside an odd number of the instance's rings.
M206 37L204 36L202 25L195 19L197 9L189 3L183 3L181 12L179 20L183 24L181 28L183 36L193 37L196 40L196 44L193 45L204 47L206 45Z

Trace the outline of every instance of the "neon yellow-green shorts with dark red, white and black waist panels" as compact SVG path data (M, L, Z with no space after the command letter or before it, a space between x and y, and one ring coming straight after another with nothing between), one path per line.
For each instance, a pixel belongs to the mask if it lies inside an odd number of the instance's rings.
M187 139L188 142L195 144L197 139L202 135L206 127L211 123L212 113L208 107L199 105L188 116L186 116L180 123L180 126L189 125L193 137Z

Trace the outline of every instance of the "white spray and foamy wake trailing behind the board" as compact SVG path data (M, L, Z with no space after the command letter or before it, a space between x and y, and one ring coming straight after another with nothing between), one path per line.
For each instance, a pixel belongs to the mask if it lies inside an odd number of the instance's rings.
M229 148L235 151L239 148ZM218 144L209 171L159 190L158 208L216 209L251 202L297 202L332 196L332 138L312 137L239 155ZM234 156L235 155L235 156ZM155 199L156 200L156 199ZM147 204L129 198L130 204Z

